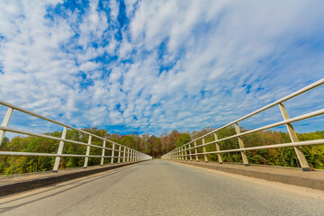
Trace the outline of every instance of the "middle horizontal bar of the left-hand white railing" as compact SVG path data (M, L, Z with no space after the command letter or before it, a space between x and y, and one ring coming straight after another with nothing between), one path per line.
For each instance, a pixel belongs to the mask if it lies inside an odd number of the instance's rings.
M94 148L103 148L102 146L96 146L96 145L92 145L92 144L87 144L85 142L79 142L79 141L75 141L75 140L71 140L71 139L61 139L61 138L45 135L45 134L42 134L42 133L35 133L35 132L29 132L29 131L25 131L25 130L18 130L18 129L8 128L8 127L4 127L4 126L0 126L0 130L15 132L15 133L19 133L19 134L30 135L30 136L40 137L40 138L45 138L45 139L55 139L55 140L58 140L58 141L70 142L70 143L75 143L75 144L84 145L84 146L90 146L90 147L94 147ZM112 149L112 148L106 148L106 147L104 149L119 151L118 149ZM121 152L126 153L127 151L121 151Z

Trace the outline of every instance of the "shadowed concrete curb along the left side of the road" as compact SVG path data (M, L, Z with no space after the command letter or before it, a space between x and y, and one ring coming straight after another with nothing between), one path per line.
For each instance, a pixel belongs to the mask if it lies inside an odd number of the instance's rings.
M58 174L49 173L49 176L42 177L42 178L35 178L35 179L28 179L21 182L15 182L13 184L4 184L0 186L0 197L7 196L14 193L21 193L25 191L29 191L32 189L40 188L43 186L48 186L51 184L58 184L60 182L64 182L67 180L83 177L86 175L93 175L97 173L101 173L104 171L108 171L115 168L120 168L122 166L129 166L134 165L137 163L140 163L143 161L133 162L133 163L127 163L127 164L120 164L115 166L100 166L98 168L92 168L92 169L81 169L80 170L71 170L71 173L64 173L60 174L58 171ZM53 175L51 175L53 174Z

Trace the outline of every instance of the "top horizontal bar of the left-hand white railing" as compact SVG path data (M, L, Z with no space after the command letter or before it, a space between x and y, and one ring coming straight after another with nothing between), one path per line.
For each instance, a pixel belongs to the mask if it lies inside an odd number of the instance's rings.
M117 143L117 142L114 142L114 141L112 141L112 140L110 140L110 139L104 139L104 138L102 138L102 137L100 137L100 136L97 136L97 135L91 133L91 132L87 132L87 131L85 131L85 130L77 129L77 128L72 127L72 126L70 126L70 125L67 125L67 124L65 124L65 123L61 123L61 122L59 122L59 121L55 121L55 120L49 119L48 117L45 117L45 116L42 116L42 115L37 114L37 113L35 113L35 112L31 112L31 111L29 111L29 110L23 109L23 108L21 108L21 107L19 107L19 106L16 106L16 105L14 105L14 104L6 103L6 102L1 101L1 100L0 100L0 104L4 105L4 106L6 106L6 107L11 107L11 108L13 108L14 110L17 110L17 111L20 111L20 112L24 112L24 113L27 113L27 114L33 115L33 116L38 117L38 118L40 118L40 119L42 119L42 120L50 121L50 122L52 122L52 123L55 123L55 124L61 125L61 126L63 126L63 127L67 127L67 128L69 128L69 129L72 129L72 130L77 130L77 131L80 131L80 132L85 133L85 134L87 134L87 135L91 135L91 136L93 136L93 137L95 137L95 138L103 139L103 140L106 140L106 141L108 141L108 142L114 143L114 144L116 144L116 145L118 145L118 146L122 146L121 144L119 144L119 143Z

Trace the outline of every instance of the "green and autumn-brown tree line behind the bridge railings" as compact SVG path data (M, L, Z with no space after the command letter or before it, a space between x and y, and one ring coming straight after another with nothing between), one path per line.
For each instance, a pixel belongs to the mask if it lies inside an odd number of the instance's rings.
M120 143L129 148L134 148L152 157L161 157L168 151L180 147L185 143L196 139L213 128L204 128L202 130L194 130L193 132L179 132L173 130L164 132L159 137L149 134L130 134L120 135L112 134L107 130L99 130L97 128L85 129L95 135L111 139L114 142ZM242 129L244 131L245 129ZM61 131L47 133L50 136L61 137ZM229 137L236 134L234 127L228 127L217 131L219 139ZM309 133L298 133L298 138L301 141L311 139L324 139L324 131L315 131ZM76 131L67 130L66 139L72 139L87 143L88 136ZM207 136L205 142L213 141L213 135ZM279 143L291 142L289 134L282 131L264 130L243 136L245 147L256 147L264 145L273 145ZM92 144L97 146L103 145L103 140L93 137ZM202 144L202 139L197 140L197 145ZM106 147L111 144L106 144ZM238 147L238 139L227 139L220 141L220 149L232 149ZM63 149L63 154L85 155L86 146L77 145L66 142ZM206 146L207 151L215 151L215 144ZM58 141L52 139L35 138L31 136L16 136L12 139L4 137L0 146L1 151L21 151L21 152L41 152L41 153L57 153ZM309 162L310 166L317 169L324 169L324 145L302 147L302 150ZM198 152L202 152L202 148L198 148ZM101 155L102 148L91 148L90 155ZM272 166L290 166L299 167L297 156L293 148L273 148L247 151L247 159L251 164L272 165ZM111 156L110 150L105 150L106 156ZM116 155L116 154L115 154ZM207 156L210 161L217 161L216 154ZM221 157L224 162L242 163L239 152L222 153ZM59 168L72 168L83 166L84 157L62 157ZM202 156L199 157L202 159ZM53 167L55 157L13 157L0 156L0 174L14 175L21 173L31 173L50 170ZM115 158L117 160L117 158ZM110 163L110 158L105 158L104 163ZM88 166L100 164L99 157L89 157Z

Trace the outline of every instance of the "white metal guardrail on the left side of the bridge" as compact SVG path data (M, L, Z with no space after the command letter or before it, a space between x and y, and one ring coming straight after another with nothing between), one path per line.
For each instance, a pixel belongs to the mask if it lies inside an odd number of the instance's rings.
M0 100L0 104L4 105L6 107L8 107L8 110L4 116L4 121L2 122L1 126L0 126L0 145L2 143L2 140L4 139L4 133L5 131L10 131L10 132L14 132L14 133L18 133L18 134L24 134L24 135L29 135L29 136L34 136L34 137L40 137L40 138L45 138L45 139L54 139L54 140L58 140L59 144L58 144L58 152L57 154L52 154L52 153L34 153L34 152L15 152L15 151L0 151L0 156L38 156L38 157L56 157L55 158L55 163L53 166L53 172L58 172L58 165L59 165L59 161L60 161L60 157L85 157L85 162L84 162L84 167L87 167L88 164L88 158L89 157L101 157L101 163L100 165L103 166L103 162L104 162L104 158L111 158L111 164L113 164L113 158L118 158L117 159L117 163L121 163L121 158L122 158L122 163L125 162L135 162L135 161L141 161L141 160L148 160L148 159L152 159L152 157L143 154L133 148L128 148L126 146L123 146L119 143L113 142L110 139L105 139L102 138L100 136L97 136L93 133L87 132L85 130L81 130L81 129L77 129L75 127L69 126L65 123L61 123L55 120L51 120L45 116L42 116L40 114L37 114L35 112L31 112L28 110L25 110L21 107L15 106L11 103L6 103L4 101ZM62 136L61 138L58 137L53 137L53 136L49 136L49 135L45 135L42 133L36 133L36 132L30 132L30 131L24 131L24 130L17 130L17 129L13 129L13 128L9 128L8 124L9 121L13 115L14 110L16 111L20 111L20 112L24 112L27 114L30 114L32 116L38 117L42 120L45 121L50 121L52 123L55 123L57 125L63 126L63 132L62 132ZM66 139L66 135L67 135L67 129L70 130L77 130L85 135L88 136L88 142L80 142L80 141L76 141L76 140L71 140L71 139ZM96 146L96 145L92 145L91 144L91 139L92 138L97 138L97 139L101 139L103 140L103 146ZM62 154L63 152L63 148L64 148L64 143L65 142L69 142L69 143L74 143L74 144L78 144L78 145L84 145L86 146L86 152L85 155L73 155L73 154ZM108 148L106 147L106 142L109 142L112 144L112 148ZM90 155L90 148L102 148L102 155L101 156L97 156L97 155ZM118 148L117 148L118 147ZM123 148L123 149L121 149ZM111 150L112 151L112 155L111 156L105 156L105 150ZM118 156L114 156L114 153L118 152ZM121 156L122 153L122 156Z

